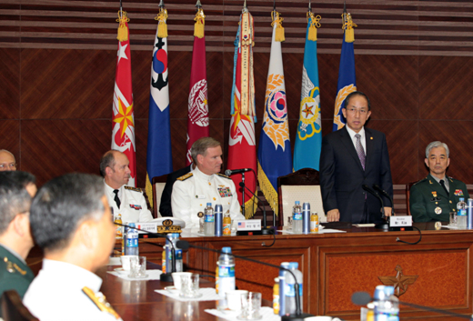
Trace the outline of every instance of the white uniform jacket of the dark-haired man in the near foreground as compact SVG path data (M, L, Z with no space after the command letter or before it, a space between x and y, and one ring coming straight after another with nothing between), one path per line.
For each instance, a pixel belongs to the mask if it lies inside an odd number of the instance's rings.
M118 321L120 317L100 310L82 291L90 288L96 296L102 279L70 263L43 260L43 267L25 293L23 303L41 321Z

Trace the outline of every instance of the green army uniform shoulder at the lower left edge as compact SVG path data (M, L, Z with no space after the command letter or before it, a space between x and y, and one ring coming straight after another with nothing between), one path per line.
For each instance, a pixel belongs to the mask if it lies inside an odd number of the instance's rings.
M7 290L16 290L23 298L34 278L33 272L25 263L4 246L0 246L0 296Z

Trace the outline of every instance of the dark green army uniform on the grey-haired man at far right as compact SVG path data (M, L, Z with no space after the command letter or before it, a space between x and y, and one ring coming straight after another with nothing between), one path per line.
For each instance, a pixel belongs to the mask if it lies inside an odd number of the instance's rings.
M460 197L468 200L465 183L447 177L448 195L430 174L410 189L409 208L414 222L448 222L449 213L457 211Z

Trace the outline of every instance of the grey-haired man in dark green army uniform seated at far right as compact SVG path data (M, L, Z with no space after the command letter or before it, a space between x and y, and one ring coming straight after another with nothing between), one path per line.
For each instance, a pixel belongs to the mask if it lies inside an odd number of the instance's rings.
M414 222L448 222L449 213L457 211L459 198L467 201L465 183L445 175L449 156L447 144L428 144L425 161L430 173L410 189L409 208Z

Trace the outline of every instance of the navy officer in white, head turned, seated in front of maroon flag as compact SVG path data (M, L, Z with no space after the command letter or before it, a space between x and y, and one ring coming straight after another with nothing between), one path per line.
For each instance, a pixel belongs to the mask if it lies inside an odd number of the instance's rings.
M177 178L173 186L171 206L173 216L186 222L186 228L198 227L199 212L204 213L207 203L215 209L223 207L233 220L243 220L238 203L237 189L232 179L220 174L222 146L212 137L203 137L190 150L196 168L191 173Z

